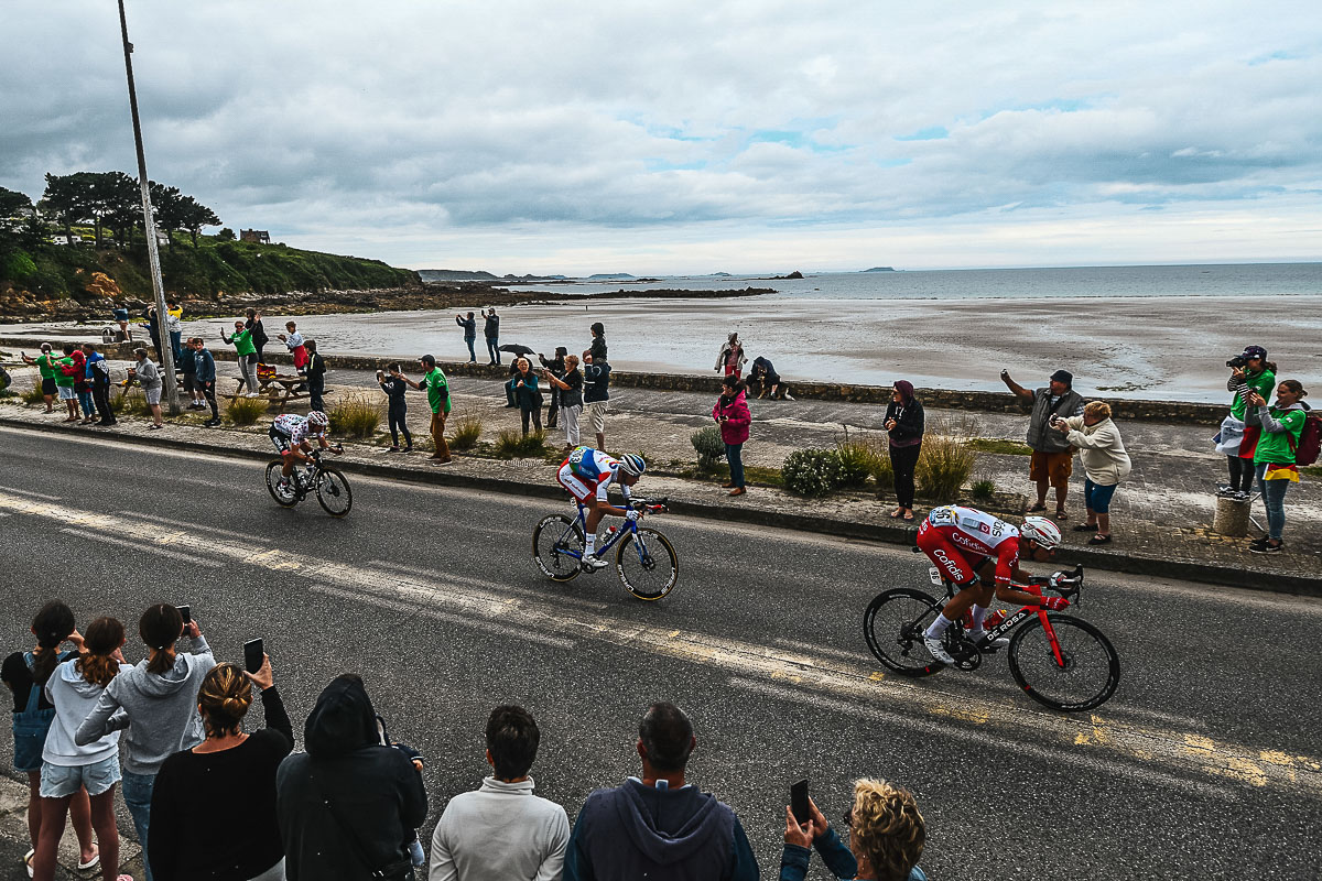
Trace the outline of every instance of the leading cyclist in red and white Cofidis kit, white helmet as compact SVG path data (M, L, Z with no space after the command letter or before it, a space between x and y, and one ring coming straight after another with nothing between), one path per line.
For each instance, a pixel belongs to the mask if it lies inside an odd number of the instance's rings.
M1058 544L1060 528L1044 516L1025 518L1023 526L1014 527L973 507L945 505L932 509L919 527L917 546L958 588L958 593L945 604L941 614L923 634L923 645L932 656L944 664L954 663L941 645L941 635L970 606L973 627L968 637L974 643L985 641L982 619L993 593L998 600L1019 605L1051 610L1068 606L1069 601L1064 597L1043 597L1040 589L1038 593L1029 593L1010 588L1011 580L1023 582L1031 577L1019 571L1021 555L1046 563L1055 555ZM1009 645L1009 639L997 639L995 645Z

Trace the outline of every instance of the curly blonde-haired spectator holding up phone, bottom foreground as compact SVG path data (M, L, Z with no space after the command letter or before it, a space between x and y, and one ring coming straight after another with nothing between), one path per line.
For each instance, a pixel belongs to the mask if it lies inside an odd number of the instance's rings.
M849 847L812 799L808 799L808 808L812 818L804 826L785 808L781 881L804 881L813 848L837 878L927 881L917 866L927 843L927 824L912 794L886 781L857 781L854 803L845 814Z

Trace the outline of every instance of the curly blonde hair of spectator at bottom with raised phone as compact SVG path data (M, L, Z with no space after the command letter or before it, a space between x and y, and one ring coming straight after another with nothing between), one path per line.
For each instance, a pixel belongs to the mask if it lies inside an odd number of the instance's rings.
M927 824L908 790L886 781L854 782L850 831L873 865L876 881L904 881L917 865L927 841Z

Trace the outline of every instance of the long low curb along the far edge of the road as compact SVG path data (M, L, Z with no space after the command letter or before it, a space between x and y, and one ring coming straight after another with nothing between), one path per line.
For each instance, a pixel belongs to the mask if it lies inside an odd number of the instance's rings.
M49 432L54 435L65 433L62 425L41 425L19 419L0 416L0 425L21 428L26 431ZM97 437L104 435L86 435L74 432L82 437ZM237 449L221 444L204 444L200 441L181 441L155 436L114 435L120 442L136 444L139 446L153 446L165 449L184 449L198 453L225 456L227 458L247 458L254 461L268 461L271 454L263 450ZM460 489L483 489L488 491L505 493L506 495L522 495L526 498L545 498L559 501L564 493L555 486L543 483L525 483L500 477L479 477L473 474L459 474L446 470L412 470L399 469L389 465L374 465L371 462L338 462L337 468L350 474L364 474L368 477L385 477L408 483L426 483L432 486L451 486ZM723 520L730 523L743 523L747 526L769 526L776 528L795 530L798 532L818 532L847 539L867 539L886 544L903 544L912 547L916 530L898 526L883 526L879 523L857 523L853 520L837 520L826 516L784 514L780 511L761 511L756 509L736 509L717 505L703 505L699 502L676 501L669 505L670 511L687 516L703 518L707 520ZM1162 560L1157 557L1140 557L1124 553L1108 553L1104 551L1091 551L1088 548L1069 548L1069 560L1081 563L1085 567L1104 569L1108 572L1122 572L1129 575L1144 575L1149 577L1177 579L1181 581L1196 581L1208 585L1223 585L1243 588L1248 590L1263 590L1269 593L1286 593L1294 596L1322 597L1322 579L1307 579L1297 575L1280 575L1272 572L1256 572L1228 565L1215 565L1207 563L1186 563L1178 560Z

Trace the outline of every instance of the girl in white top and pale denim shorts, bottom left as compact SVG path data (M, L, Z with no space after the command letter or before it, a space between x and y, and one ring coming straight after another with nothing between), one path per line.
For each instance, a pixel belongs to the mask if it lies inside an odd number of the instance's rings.
M119 732L79 746L74 741L78 725L100 699L106 686L124 663L124 625L115 618L97 618L87 626L82 655L56 667L46 680L46 696L56 707L56 720L46 736L41 758L41 839L32 860L33 877L56 877L56 852L65 831L65 814L75 800L91 800L91 826L97 831L98 852L83 853L79 869L100 861L104 881L132 881L119 874L119 829L115 827L115 783L119 773Z

